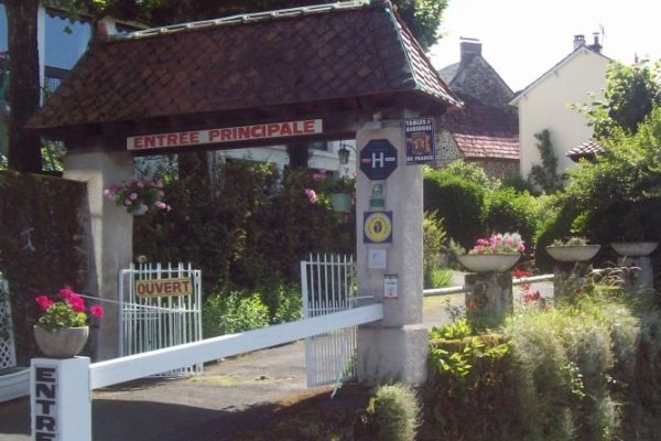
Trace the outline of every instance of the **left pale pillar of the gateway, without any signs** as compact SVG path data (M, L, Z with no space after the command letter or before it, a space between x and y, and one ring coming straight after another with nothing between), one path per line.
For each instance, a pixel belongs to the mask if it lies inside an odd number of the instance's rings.
M126 151L101 149L69 151L64 158L64 178L87 184L89 222L88 286L86 290L100 299L119 300L119 270L128 268L133 256L133 217L124 208L104 196L110 184L133 178L133 159ZM119 356L119 308L101 302L105 316L90 343L96 361ZM95 335L96 334L96 335Z

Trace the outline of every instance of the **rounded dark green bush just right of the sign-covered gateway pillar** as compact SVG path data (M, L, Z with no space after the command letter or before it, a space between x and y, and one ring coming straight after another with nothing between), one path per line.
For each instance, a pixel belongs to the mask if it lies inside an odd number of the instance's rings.
M424 174L424 209L444 219L447 236L464 247L485 235L485 189L443 171Z

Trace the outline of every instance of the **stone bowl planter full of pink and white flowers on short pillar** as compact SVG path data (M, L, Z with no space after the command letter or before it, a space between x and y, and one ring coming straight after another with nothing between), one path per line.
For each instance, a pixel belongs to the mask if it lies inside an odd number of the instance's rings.
M457 256L459 262L474 272L505 272L511 269L525 250L519 233L494 234L479 238L468 254Z

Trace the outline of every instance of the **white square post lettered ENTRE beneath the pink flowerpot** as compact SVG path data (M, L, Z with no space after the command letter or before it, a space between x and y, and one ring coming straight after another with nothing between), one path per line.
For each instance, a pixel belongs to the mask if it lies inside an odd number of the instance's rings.
M33 358L30 379L34 441L91 440L89 358Z

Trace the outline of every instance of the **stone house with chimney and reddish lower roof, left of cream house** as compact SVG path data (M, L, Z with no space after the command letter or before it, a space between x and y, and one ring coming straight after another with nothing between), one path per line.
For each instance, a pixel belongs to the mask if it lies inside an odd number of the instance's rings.
M437 121L437 165L474 162L497 178L519 171L519 129L514 94L481 55L475 39L460 42L460 61L440 71L464 103Z

